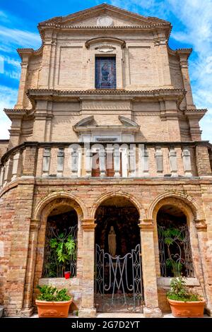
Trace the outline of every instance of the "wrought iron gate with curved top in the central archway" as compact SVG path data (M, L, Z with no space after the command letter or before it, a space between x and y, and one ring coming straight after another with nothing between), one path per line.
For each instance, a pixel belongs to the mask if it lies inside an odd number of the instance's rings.
M140 244L123 257L96 244L95 305L98 312L143 312Z

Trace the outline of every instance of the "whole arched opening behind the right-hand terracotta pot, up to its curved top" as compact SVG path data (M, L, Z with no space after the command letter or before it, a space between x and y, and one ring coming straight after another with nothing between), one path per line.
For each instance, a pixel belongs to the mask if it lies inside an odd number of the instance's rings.
M175 206L163 206L158 211L157 225L161 276L194 277L186 215Z

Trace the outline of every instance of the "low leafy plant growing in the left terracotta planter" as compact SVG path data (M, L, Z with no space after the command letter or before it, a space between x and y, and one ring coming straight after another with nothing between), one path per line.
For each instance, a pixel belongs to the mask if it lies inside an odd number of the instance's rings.
M58 290L56 287L49 285L38 285L37 288L40 290L40 295L37 296L37 300L52 302L71 300L71 296L67 294L66 288Z

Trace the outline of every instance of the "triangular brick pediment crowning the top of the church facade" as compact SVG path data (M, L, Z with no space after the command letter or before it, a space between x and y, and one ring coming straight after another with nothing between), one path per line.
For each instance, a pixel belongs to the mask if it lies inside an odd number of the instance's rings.
M45 22L42 22L41 24L44 23L55 23L66 26L135 26L168 22L160 20L160 18L145 17L137 13L131 13L109 4L101 4L68 16L60 16L45 20Z

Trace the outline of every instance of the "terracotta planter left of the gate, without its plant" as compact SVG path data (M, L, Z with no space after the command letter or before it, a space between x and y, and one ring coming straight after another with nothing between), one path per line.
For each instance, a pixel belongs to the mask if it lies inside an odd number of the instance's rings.
M39 318L67 318L72 300L48 302L35 300Z

